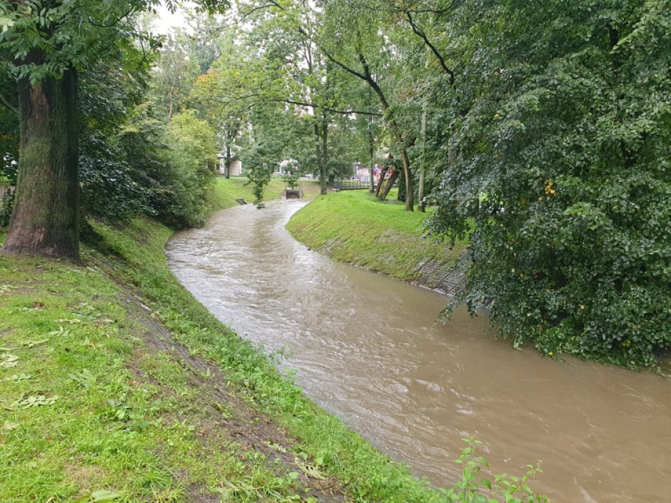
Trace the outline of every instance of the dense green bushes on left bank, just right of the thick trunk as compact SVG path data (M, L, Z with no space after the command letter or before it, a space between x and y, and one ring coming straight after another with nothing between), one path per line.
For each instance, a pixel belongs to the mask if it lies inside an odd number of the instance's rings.
M80 184L86 213L112 220L152 215L168 225L203 223L216 164L215 134L193 111L158 117L146 85L97 71L82 82ZM116 77L116 78L115 78Z

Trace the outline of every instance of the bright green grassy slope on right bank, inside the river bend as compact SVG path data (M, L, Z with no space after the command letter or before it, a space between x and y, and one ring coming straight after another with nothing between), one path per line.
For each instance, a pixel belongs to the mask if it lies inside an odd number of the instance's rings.
M465 243L450 248L425 238L425 217L405 211L401 203L348 190L315 198L293 215L287 229L335 260L453 293L461 279L455 264Z

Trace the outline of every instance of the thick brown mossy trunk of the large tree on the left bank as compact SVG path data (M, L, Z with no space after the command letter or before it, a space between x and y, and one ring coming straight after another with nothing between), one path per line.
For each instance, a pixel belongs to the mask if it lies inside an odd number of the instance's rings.
M19 176L3 253L79 262L77 76L19 82Z

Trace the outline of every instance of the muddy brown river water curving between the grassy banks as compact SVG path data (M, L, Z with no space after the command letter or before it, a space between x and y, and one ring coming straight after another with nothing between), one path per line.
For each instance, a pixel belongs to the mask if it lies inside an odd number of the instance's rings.
M284 225L305 203L218 213L168 245L173 273L222 322L282 351L306 394L412 472L458 477L463 437L493 471L543 461L553 502L671 502L671 382L555 362L494 340L482 317L434 323L445 297L334 263Z

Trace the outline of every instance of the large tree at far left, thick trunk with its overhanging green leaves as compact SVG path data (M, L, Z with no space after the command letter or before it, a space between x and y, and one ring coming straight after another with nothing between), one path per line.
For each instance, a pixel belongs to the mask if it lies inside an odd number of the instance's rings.
M16 203L4 253L79 260L79 73L138 33L157 0L0 3L0 53L19 93ZM174 4L174 2L170 2ZM202 0L213 8L215 0Z

